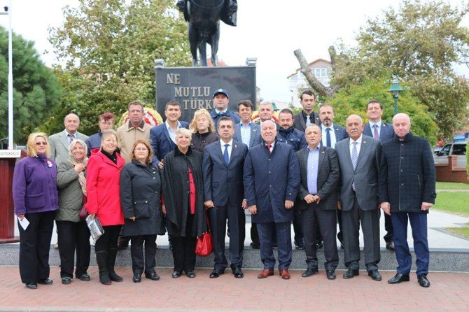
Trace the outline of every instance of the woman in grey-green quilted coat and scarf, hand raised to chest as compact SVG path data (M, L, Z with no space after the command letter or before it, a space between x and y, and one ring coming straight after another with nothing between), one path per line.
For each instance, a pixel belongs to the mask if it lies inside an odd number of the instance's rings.
M60 278L62 284L71 283L76 249L75 276L90 281L87 269L90 265L90 230L80 219L80 210L86 202L86 143L77 139L69 145L69 158L59 164L57 187L59 210L55 213L60 254Z

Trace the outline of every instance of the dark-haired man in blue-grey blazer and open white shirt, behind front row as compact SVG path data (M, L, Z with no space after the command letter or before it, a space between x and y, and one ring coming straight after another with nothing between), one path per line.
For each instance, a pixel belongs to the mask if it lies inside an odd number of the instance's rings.
M243 142L252 148L261 143L260 138L260 125L252 122L251 117L253 115L253 104L251 101L244 100L238 104L238 114L241 117L241 122L235 125L235 135L233 140Z

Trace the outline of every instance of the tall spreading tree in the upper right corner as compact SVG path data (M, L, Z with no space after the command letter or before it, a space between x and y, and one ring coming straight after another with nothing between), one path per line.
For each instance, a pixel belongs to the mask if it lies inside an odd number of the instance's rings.
M384 69L399 76L407 90L428 107L439 132L449 139L468 115L469 86L452 65L469 55L469 29L461 20L469 3L453 7L441 0L405 0L367 20L356 48L342 46L332 83L348 88Z

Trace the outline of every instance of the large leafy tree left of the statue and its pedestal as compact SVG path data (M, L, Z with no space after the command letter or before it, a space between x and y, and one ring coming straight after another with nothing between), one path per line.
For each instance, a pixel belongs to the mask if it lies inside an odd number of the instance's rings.
M64 16L61 27L50 29L65 94L45 125L49 132L62 129L70 112L80 116L80 131L91 134L104 111L120 115L134 99L153 105L154 59L190 64L186 22L172 0L80 0Z

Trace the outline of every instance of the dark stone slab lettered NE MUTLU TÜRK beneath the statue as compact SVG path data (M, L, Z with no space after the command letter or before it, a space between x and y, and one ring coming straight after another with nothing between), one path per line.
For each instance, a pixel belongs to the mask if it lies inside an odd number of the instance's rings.
M190 122L197 109L214 109L214 92L225 89L230 95L230 111L237 112L239 101L255 106L255 66L239 67L157 67L156 110L165 120L165 105L181 103L181 120Z

